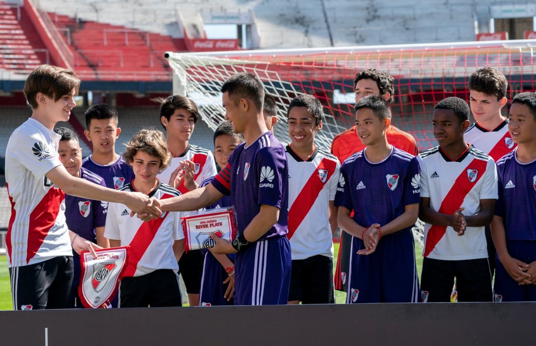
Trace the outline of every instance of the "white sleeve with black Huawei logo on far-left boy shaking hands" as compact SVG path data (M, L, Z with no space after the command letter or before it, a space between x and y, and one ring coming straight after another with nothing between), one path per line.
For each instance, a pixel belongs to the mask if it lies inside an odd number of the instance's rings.
M35 178L42 178L57 166L61 166L58 150L40 134L17 133L8 149L17 161L31 171Z

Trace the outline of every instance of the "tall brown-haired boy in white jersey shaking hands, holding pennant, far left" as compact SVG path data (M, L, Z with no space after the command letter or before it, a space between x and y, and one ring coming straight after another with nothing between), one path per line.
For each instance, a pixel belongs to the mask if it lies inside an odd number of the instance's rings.
M69 120L79 86L74 72L51 65L36 67L24 84L32 116L13 131L5 158L11 202L6 249L14 310L68 307L72 250L96 247L67 228L65 194L160 214L147 196L110 190L65 170L57 152L61 136L53 128Z

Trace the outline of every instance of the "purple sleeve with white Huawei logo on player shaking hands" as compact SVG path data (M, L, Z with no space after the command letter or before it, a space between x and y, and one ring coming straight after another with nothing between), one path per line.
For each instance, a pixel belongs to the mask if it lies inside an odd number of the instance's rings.
M281 208L283 176L288 174L287 157L278 148L266 147L258 151L256 158L257 204Z

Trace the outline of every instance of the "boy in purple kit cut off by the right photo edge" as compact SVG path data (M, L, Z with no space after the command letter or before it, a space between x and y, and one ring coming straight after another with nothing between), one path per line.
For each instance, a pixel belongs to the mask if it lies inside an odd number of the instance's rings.
M508 115L517 149L497 162L492 221L497 248L495 302L536 301L536 95L517 94Z

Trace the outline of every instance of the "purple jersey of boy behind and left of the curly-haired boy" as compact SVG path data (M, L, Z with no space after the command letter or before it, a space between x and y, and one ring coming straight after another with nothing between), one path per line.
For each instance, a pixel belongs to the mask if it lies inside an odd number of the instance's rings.
M93 162L91 156L82 161L82 167L99 175L104 179L106 187L110 189L120 189L134 179L134 171L121 157L110 165L99 165Z

